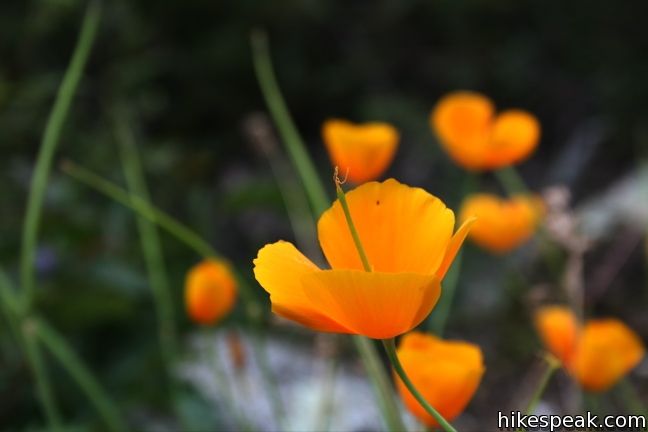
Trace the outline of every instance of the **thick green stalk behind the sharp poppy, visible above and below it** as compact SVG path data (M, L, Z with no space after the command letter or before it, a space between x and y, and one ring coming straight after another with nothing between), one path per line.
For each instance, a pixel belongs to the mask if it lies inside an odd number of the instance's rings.
M314 216L319 217L328 208L329 200L279 91L272 69L267 37L263 32L257 31L252 34L252 57L266 104L304 185ZM372 342L363 336L353 336L352 339L373 385L387 427L390 430L405 430L394 401L389 377L381 367L378 351Z

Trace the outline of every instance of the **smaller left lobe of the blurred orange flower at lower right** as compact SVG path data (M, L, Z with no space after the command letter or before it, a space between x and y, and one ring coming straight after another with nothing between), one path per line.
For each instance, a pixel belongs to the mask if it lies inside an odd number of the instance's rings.
M549 352L569 364L580 332L574 313L564 306L545 306L536 312L535 325Z

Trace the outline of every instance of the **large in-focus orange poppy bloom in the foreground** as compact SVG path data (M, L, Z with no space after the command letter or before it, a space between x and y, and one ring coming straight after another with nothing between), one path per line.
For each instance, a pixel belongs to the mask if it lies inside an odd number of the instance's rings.
M363 269L336 200L317 227L330 270L279 241L259 251L254 275L273 312L311 329L374 339L403 334L436 304L472 221L453 235L454 214L441 200L393 179L365 183L346 199L371 272Z

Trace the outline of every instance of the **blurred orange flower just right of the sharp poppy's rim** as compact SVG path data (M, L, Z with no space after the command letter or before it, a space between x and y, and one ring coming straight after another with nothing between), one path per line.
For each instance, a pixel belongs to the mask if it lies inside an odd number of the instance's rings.
M505 253L529 240L544 214L540 198L523 195L510 199L491 194L471 195L464 201L460 220L476 217L470 239L495 253Z

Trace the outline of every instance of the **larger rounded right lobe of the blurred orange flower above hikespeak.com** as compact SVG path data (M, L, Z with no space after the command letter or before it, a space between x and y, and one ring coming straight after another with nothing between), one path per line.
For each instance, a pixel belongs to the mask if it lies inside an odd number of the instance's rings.
M639 336L617 319L590 320L579 339L570 371L585 390L602 392L641 362Z

